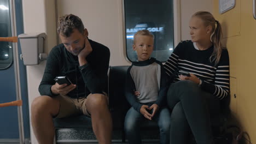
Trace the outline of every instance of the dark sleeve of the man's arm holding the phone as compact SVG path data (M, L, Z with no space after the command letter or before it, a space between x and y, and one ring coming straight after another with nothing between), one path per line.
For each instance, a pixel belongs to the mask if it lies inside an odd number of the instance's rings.
M47 57L43 79L38 88L40 95L48 95L50 97L55 96L51 92L51 86L55 84L54 78L59 73L60 51L57 49L61 49L61 47L54 47Z

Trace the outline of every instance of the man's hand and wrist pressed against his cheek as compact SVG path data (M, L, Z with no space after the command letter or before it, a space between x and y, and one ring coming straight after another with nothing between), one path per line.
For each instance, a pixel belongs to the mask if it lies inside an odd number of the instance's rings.
M92 52L91 44L88 37L85 38L85 45L82 51L78 54L79 65L82 66L87 63L86 57Z

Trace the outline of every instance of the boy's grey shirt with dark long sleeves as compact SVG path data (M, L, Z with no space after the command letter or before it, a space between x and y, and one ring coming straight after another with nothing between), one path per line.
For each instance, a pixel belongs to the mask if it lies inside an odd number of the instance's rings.
M155 58L132 62L127 70L125 96L138 112L143 104L165 105L167 88L168 79L164 67ZM141 93L139 97L134 95L135 90Z

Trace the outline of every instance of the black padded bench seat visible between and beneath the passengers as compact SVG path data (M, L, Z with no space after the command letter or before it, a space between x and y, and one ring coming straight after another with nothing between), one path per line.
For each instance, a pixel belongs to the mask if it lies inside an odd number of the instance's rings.
M129 66L114 66L109 67L109 74L108 74L108 96L109 96L109 109L112 115L113 119L113 133L117 133L118 135L122 135L120 139L123 141L125 140L124 135L124 119L127 110L130 109L130 105L127 102L124 94L124 86L125 86L125 79L127 74L127 69ZM222 101L222 113L220 116L217 116L216 118L212 118L212 125L214 127L217 126L219 128L220 125L223 125L225 121L225 117L223 115L227 115L226 113L229 113L229 101L230 96L225 98ZM91 134L93 135L92 131L92 125L91 125L91 118L80 115L80 116L73 116L73 117L66 117L66 118L54 118L54 125L56 127L56 139L66 139L67 135L70 135L67 133L67 129L73 130L72 133L85 133L86 131L91 131ZM159 139L159 130L158 125L155 122L152 121L146 121L142 123L141 125L142 133L146 137L144 139ZM78 132L77 132L78 131ZM146 133L147 132L147 133ZM59 135L58 135L59 134ZM63 135L61 137L61 135ZM74 134L75 135L75 134ZM156 137L152 137L152 135L155 135ZM84 136L81 136L84 137ZM120 136L118 136L120 137ZM143 135L142 135L143 137ZM77 137L68 137L67 139L78 139ZM86 139L91 139L90 137L86 137ZM117 138L119 139L119 138Z

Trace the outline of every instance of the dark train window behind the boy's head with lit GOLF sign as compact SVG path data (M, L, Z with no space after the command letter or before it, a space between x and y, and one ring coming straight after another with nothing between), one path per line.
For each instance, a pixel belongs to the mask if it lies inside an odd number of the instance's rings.
M154 34L152 57L166 62L174 46L173 39L173 1L172 0L124 0L126 56L136 61L136 52L132 50L133 34L148 29Z

